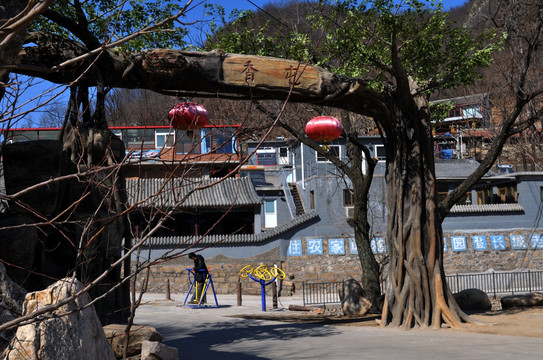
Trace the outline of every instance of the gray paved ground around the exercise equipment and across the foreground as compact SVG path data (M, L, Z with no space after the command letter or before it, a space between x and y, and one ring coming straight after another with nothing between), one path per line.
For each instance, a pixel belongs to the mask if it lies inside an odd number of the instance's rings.
M243 306L236 306L235 296L218 295L220 307L205 309L178 307L184 296L172 297L147 294L136 323L156 327L183 360L543 358L541 338L247 319L235 316L263 315L260 296L245 295ZM266 315L290 314L290 304L302 300L280 298L281 309L268 306Z

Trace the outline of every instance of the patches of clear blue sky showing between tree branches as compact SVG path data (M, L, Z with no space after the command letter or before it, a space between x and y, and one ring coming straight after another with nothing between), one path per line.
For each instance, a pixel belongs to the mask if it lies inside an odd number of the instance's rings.
M180 0L181 2L183 0ZM450 9L451 7L460 6L466 3L468 0L444 0L444 8L445 10ZM204 3L210 3L210 4L220 4L226 9L226 13L229 14L231 10L237 8L237 9L243 9L243 10L258 10L258 7L263 7L266 4L270 3L284 3L283 0L204 0L204 1L193 1L193 8L191 9L190 13L188 14L188 20L194 21L194 20L201 20L204 18ZM255 6L256 5L256 6ZM198 39L194 38L193 41L197 42ZM23 98L30 99L31 97L39 95L42 91L45 91L50 86L46 86L43 81L39 79L35 79L35 83L38 83L39 85L34 85L32 87L32 91L27 91L23 94ZM53 93L57 93L58 91L54 91ZM40 99L41 102L46 101L47 98L49 98L50 95L44 96ZM67 92L64 92L64 94L61 94L57 99L54 101L60 102L61 104L64 104L67 99ZM36 104L36 101L32 101L32 104L29 104L28 106L25 106L26 109L29 108L29 106L33 106ZM25 118L25 121L17 125L16 127L23 127L28 125L28 121L32 121L33 123L37 122L39 118L41 117L40 113L41 109L33 112L31 115L27 116Z

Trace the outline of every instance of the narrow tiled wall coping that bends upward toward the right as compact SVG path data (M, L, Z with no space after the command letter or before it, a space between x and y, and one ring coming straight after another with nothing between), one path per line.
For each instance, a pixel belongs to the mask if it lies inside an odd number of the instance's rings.
M210 235L202 238L194 236L164 236L164 237L152 237L149 238L149 242L152 246L189 246L198 244L198 246L213 245L213 244L227 244L227 245L256 245L258 243L272 240L275 236L278 236L288 230L294 229L303 223L315 219L318 217L318 213L315 210L311 210L305 214L296 216L294 219L287 221L273 229L262 232L260 234L239 234L239 235Z

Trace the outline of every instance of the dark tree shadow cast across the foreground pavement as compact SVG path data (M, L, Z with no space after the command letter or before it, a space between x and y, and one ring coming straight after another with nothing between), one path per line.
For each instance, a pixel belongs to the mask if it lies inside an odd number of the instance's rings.
M284 340L297 338L324 337L337 333L334 327L308 323L262 323L258 320L244 319L220 322L180 329L161 327L157 329L163 336L163 343L179 349L182 359L221 359L221 360L265 360L273 359L269 349ZM258 341L265 340L258 349ZM247 343L246 352L239 347ZM232 345L237 351L222 351L217 347ZM268 352L268 356L265 354ZM257 355L258 353L258 355Z

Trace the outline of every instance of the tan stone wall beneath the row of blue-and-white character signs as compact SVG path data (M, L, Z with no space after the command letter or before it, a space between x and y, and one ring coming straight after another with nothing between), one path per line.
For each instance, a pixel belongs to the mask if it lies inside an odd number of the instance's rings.
M477 273L490 269L506 271L514 269L543 269L543 250L513 250L509 241L509 232L502 233L505 238L505 250L492 250L490 235L483 233L454 233L445 234L447 250L444 253L445 272L448 275L457 273ZM523 234L521 231L515 234ZM471 242L472 235L485 235L488 249L475 250ZM524 233L528 239L528 235ZM464 236L467 249L465 251L453 251L450 236ZM323 239L322 255L289 256L286 261L279 261L279 249L276 248L258 256L234 259L225 256L215 256L206 259L206 263L213 276L213 284L218 294L235 294L238 281L242 285L242 294L260 294L260 284L248 277L240 278L239 271L246 265L257 267L260 264L268 268L277 265L287 274L287 279L279 283L282 295L288 295L294 286L294 290L301 291L302 282L332 282L342 281L348 278L360 280L360 262L357 254L351 254L348 247L345 255L329 255L328 240ZM307 247L306 239L302 239L302 247ZM529 248L528 241L528 248ZM381 264L387 260L386 254L377 254ZM186 268L192 267L192 261L185 258L173 262L152 267L149 292L165 293L166 280L169 280L172 294L186 294L189 284ZM141 282L139 282L141 284ZM271 295L271 286L266 287L266 293ZM209 301L209 299L208 299Z

